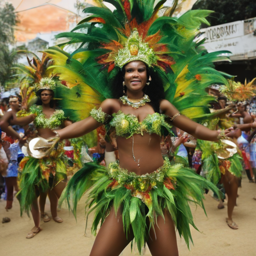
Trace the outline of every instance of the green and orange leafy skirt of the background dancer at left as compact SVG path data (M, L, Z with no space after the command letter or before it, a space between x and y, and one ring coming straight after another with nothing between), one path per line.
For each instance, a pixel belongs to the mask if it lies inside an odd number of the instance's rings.
M62 149L53 151L50 156L41 159L25 156L20 161L20 191L17 194L20 215L24 210L29 215L31 203L39 195L39 191L46 192L59 181L66 179L65 163L66 158L62 154Z

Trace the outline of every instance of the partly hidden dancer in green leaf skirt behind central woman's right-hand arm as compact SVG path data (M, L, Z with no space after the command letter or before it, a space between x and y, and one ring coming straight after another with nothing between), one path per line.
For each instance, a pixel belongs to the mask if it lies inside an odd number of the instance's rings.
M226 114L232 105L225 107L224 98L219 98L221 110L219 110L220 113L217 118L208 121L209 128L226 129L232 125ZM230 143L230 145L226 143ZM202 168L206 172L206 178L216 184L220 190L221 184L223 184L224 192L227 194L226 223L232 229L237 229L238 225L232 220L232 213L236 205L238 179L241 177L242 172L242 158L236 153L236 145L232 141L209 142L202 140L197 140L197 145L202 150ZM233 148L235 153L226 150L228 147ZM224 208L222 203L224 197L222 193L218 209Z

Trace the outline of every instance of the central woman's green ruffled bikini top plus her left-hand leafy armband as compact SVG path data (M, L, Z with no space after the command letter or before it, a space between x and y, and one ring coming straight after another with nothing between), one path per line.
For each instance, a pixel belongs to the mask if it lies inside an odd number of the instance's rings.
M124 114L121 110L113 113L111 119L111 116L104 113L101 108L92 109L90 115L98 122L115 127L116 135L121 137L129 138L133 134L143 135L143 132L156 133L159 136L171 133L171 125L165 121L166 115L164 114L147 114L141 122L135 115Z

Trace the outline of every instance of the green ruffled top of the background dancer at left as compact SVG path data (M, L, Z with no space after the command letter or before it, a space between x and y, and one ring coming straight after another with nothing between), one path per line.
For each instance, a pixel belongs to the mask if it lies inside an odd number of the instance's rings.
M45 117L41 105L30 107L30 111L33 114L36 114L36 117L34 118L34 126L36 128L57 129L61 126L63 120L66 119L64 111L60 109L55 110L49 118Z

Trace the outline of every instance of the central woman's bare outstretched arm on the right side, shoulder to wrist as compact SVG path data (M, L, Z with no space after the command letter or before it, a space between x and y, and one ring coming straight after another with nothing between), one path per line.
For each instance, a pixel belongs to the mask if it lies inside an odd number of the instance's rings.
M170 117L178 113L178 110L166 99L161 100L160 109L163 111L164 114ZM179 129L186 131L195 138L210 141L217 141L219 139L219 131L210 130L205 126L192 121L184 115L178 115L173 119L172 123Z

